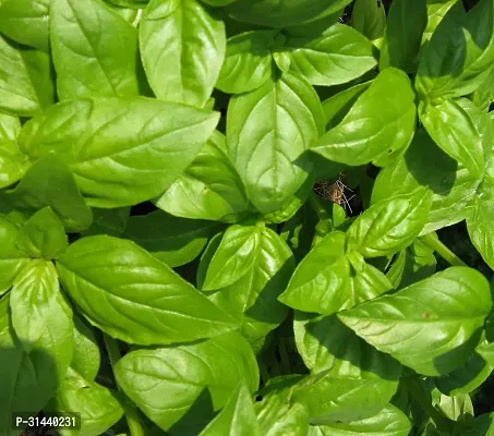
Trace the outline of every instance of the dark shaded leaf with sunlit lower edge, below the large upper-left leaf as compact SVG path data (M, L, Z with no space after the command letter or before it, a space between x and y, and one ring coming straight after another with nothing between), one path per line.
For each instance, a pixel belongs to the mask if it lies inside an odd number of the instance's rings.
M168 266L177 267L200 255L215 227L208 221L178 218L156 210L131 217L124 238L136 242Z

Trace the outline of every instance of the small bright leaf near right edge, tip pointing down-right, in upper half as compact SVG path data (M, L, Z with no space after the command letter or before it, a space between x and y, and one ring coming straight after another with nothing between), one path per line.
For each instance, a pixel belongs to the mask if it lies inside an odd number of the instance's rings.
M485 164L482 133L473 120L474 116L482 116L480 109L462 98L444 100L437 106L421 104L419 113L427 133L446 154L473 177L482 174Z

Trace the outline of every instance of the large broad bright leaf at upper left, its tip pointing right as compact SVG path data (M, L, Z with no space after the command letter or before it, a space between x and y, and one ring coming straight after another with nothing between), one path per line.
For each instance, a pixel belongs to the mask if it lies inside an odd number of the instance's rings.
M21 148L67 164L88 205L130 206L161 194L192 162L218 114L137 97L82 98L29 120Z

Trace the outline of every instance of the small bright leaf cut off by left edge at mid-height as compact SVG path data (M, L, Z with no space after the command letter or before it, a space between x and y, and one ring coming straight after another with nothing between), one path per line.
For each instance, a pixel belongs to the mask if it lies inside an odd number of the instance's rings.
M17 274L29 262L16 246L19 230L0 215L0 295L7 292Z

